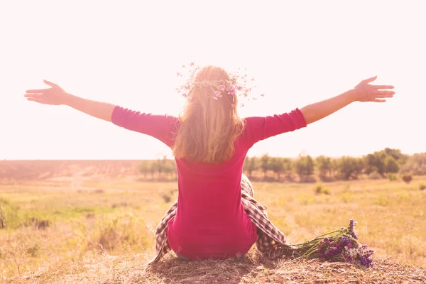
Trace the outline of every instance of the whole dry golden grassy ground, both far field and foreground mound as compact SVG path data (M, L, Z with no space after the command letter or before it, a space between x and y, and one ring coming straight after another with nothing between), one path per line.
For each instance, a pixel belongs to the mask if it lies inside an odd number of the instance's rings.
M80 170L90 173L86 163ZM119 173L114 167L124 164L114 163L105 168ZM43 180L0 183L0 213L6 216L0 282L426 283L426 190L419 189L426 178L415 177L409 185L331 182L324 184L328 194L316 194L314 184L253 183L256 199L290 243L356 219L361 243L376 250L376 267L365 269L319 261L288 264L261 256L254 247L239 259L185 262L170 255L146 268L154 256L153 229L177 197L177 186L129 177L53 173ZM28 223L34 218L37 222ZM48 226L35 225L41 222ZM388 258L394 262L381 260Z

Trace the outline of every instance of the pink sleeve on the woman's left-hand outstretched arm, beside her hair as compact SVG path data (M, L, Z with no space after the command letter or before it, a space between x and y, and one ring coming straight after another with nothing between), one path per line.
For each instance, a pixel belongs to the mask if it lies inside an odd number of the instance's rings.
M178 119L167 114L146 114L116 106L112 111L111 122L125 129L153 136L171 147Z

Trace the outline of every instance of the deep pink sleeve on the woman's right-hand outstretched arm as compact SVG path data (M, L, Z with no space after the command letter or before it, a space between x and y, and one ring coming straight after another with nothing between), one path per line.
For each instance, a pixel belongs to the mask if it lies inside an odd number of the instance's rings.
M247 117L244 133L247 146L251 148L258 141L306 126L302 111L295 109L285 114Z

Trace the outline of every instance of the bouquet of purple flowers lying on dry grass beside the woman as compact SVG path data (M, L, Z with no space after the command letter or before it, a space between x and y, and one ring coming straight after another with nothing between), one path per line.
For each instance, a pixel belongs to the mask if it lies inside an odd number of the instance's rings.
M374 265L371 258L374 251L359 243L358 236L354 232L355 226L356 222L351 219L347 228L330 231L303 244L292 244L289 249L300 258L359 262L363 266L371 267Z

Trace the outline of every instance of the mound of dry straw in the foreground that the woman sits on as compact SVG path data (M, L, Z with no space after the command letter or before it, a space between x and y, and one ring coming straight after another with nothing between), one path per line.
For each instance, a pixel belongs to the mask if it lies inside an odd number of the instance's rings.
M226 260L181 261L167 256L146 266L148 256L109 256L49 266L36 273L13 278L8 283L426 283L426 271L388 260L378 260L373 268L349 263L307 260L290 263L271 260L254 248L246 256Z

